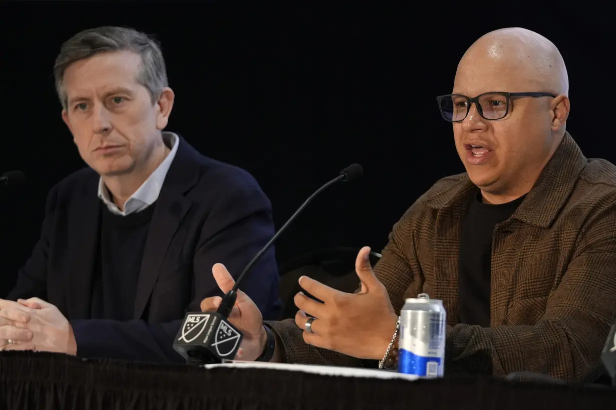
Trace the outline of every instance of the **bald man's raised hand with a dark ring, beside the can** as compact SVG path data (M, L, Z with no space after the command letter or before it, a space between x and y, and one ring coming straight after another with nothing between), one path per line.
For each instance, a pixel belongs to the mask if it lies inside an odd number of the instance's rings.
M370 248L363 247L355 260L355 272L362 282L359 293L344 293L309 277L299 278L299 285L321 302L296 294L301 309L295 323L304 330L307 344L346 355L380 360L394 334L397 315L383 283L370 266ZM307 314L314 317L312 332L306 331Z

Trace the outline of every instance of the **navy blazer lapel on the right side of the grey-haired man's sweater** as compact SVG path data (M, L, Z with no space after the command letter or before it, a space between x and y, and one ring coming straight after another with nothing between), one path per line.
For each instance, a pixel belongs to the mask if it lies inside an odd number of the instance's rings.
M198 155L197 151L180 136L176 157L169 167L163 188L156 200L145 242L133 311L133 318L136 320L140 319L145 311L161 266L168 256L169 244L192 205L184 194L199 179L198 162L193 159L195 155Z

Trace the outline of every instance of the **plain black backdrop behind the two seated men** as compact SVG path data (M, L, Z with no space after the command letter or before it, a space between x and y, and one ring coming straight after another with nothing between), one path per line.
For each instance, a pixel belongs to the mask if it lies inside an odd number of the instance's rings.
M616 162L609 13L506 3L1 4L0 171L23 170L28 183L0 193L0 296L38 239L47 192L84 166L60 118L52 65L63 41L94 26L161 41L176 93L167 129L250 171L278 227L341 168L363 165L359 183L323 194L281 238L279 262L328 246L380 250L419 195L463 171L434 97L450 92L464 50L496 28L529 28L559 47L567 129L587 157Z

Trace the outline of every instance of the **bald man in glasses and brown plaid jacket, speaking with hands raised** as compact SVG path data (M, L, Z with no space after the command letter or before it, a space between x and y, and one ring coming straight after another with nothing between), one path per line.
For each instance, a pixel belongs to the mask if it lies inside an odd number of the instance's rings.
M447 310L448 373L597 379L616 317L616 167L586 159L565 132L568 92L562 57L544 37L520 28L481 37L453 93L437 98L466 173L413 203L374 271L369 248L360 251L357 293L302 277L322 302L299 293L295 320L266 323L240 294L238 356L395 368L400 309L428 293ZM224 266L213 273L222 291L232 287Z

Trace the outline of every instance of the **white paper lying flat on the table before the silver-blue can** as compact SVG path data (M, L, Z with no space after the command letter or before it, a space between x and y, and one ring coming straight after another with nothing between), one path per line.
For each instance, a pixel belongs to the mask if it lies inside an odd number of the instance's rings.
M395 371L348 368L341 366L289 365L288 363L262 363L260 361L230 361L228 363L205 365L206 369L238 368L238 369L274 369L286 371L301 371L304 373L322 374L323 376L368 377L371 379L405 379L417 380L415 374L397 373Z

